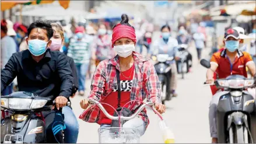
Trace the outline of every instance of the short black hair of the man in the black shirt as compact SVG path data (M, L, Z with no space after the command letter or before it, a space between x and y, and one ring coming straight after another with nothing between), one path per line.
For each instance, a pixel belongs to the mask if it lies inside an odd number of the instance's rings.
M48 20L37 20L36 22L31 23L29 26L29 29L27 29L27 36L29 36L29 34L31 33L31 30L33 30L35 28L40 28L40 29L46 30L48 40L50 40L51 37L53 36L54 31L51 27L50 21L48 21Z

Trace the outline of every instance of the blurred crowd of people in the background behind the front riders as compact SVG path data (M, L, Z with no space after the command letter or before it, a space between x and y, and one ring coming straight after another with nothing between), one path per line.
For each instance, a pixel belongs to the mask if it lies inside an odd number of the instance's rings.
M58 23L60 24L60 23ZM61 24L60 24L61 25ZM139 53L142 53L143 46L146 47L148 57L150 58L153 55L153 52L156 50L162 50L165 52L164 48L170 48L170 52L177 52L177 45L179 44L188 44L191 45L191 41L194 40L197 51L198 51L198 59L201 58L201 50L205 47L205 30L202 26L192 27L195 33L188 33L184 26L180 26L178 30L177 37L171 36L171 27L166 25L161 29L162 34L159 40L152 41L152 36L154 32L154 27L152 23L144 23L146 26L142 26L143 23L139 24L140 26L136 26L136 31L140 31L140 34L136 34L136 48L139 48ZM13 24L10 20L1 20L1 69L5 66L8 59L11 55L17 51L27 50L29 47L26 42L27 38L27 26L22 23L16 22ZM61 26L55 26L59 27ZM143 27L145 27L143 29ZM191 31L192 31L191 30ZM63 38L64 40L54 40L51 44L51 49L56 50L57 47L61 47L59 51L64 52L65 55L74 59L75 68L78 75L78 94L80 96L85 95L85 83L86 79L92 78L92 72L94 72L95 67L99 64L100 61L104 59L113 58L117 53L111 48L111 34L113 33L110 29L109 24L107 23L99 23L95 26L91 26L90 24L80 24L75 27L73 33L66 31L66 29L62 28ZM138 36L141 35L141 36ZM60 38L60 36L54 36L55 38ZM162 46L160 46L160 45ZM158 45L159 48L156 48ZM8 48L7 48L8 47ZM82 48L81 48L82 47ZM136 50L137 51L137 50ZM160 52L161 53L161 52ZM192 55L189 54L189 59L192 61ZM176 55L176 60L178 59ZM192 62L190 62L190 68L192 67ZM177 70L177 66L175 64L175 60L173 61L173 68ZM177 95L175 91L175 83L176 79L176 71L173 71L174 75L171 80L173 82L172 93L174 96ZM12 93L12 90L17 90L17 82L16 79L13 83L11 83L8 88L5 89L4 94Z

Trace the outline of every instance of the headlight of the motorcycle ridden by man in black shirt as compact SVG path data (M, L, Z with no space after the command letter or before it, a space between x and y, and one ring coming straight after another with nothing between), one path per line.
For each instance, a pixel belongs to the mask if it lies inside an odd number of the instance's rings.
M9 108L13 110L29 110L32 99L9 98Z

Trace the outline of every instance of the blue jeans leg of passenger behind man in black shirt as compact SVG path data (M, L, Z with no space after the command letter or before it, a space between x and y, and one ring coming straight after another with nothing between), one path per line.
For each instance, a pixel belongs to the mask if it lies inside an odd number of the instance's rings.
M62 114L64 114L64 123L66 125L65 143L76 143L78 141L79 124L73 113L71 107L63 107Z

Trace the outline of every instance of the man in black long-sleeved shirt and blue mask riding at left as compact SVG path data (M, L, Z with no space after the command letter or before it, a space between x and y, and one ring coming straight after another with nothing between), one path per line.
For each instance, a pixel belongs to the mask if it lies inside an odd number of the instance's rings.
M50 22L37 20L30 24L27 32L29 50L16 52L10 57L1 72L1 92L17 76L19 91L55 100L52 110L43 111L47 143L64 143L62 131L53 134L52 125L58 121L55 120L55 111L66 106L68 97L71 96L71 68L65 54L47 48L51 45L50 39L54 33ZM61 79L60 87L56 78Z

